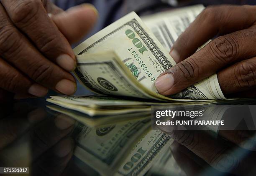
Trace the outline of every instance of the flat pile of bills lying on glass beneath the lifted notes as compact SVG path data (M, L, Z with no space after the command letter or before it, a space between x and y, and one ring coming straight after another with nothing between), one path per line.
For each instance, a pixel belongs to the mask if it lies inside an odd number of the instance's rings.
M176 105L194 105L195 102L159 102L159 101L133 101L130 99L121 99L110 96L87 95L87 96L51 96L46 101L58 106L47 106L53 111L67 114L78 121L88 123L90 126L115 123L125 121L133 117L150 116L151 107L158 108L176 106ZM196 103L212 104L217 101L207 101ZM63 108L61 108L63 107Z

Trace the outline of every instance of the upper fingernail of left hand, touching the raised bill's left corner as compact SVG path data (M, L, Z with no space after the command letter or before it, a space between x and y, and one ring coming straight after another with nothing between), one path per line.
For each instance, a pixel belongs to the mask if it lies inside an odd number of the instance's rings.
M76 62L67 54L59 55L56 58L56 63L67 71L73 71L76 68Z

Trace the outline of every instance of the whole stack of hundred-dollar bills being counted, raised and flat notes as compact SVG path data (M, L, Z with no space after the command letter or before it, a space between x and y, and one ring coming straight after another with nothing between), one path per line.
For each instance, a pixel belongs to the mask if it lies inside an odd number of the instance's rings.
M161 73L176 65L169 48L203 8L167 11L146 16L144 22L134 12L125 15L74 48L74 74L100 96L53 96L47 101L97 116L139 112L154 103L225 100L216 74L172 96L160 95L154 85Z

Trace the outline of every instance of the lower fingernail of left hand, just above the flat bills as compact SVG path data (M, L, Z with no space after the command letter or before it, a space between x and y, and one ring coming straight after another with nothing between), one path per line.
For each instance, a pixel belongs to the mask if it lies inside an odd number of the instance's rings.
M77 85L71 80L63 79L56 84L55 88L65 95L73 95L77 90Z

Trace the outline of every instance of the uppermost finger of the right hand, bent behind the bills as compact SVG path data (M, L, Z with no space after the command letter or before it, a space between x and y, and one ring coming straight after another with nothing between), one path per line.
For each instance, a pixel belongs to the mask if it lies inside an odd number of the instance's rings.
M179 63L215 35L246 29L255 20L254 6L221 5L205 8L176 40L170 55Z

